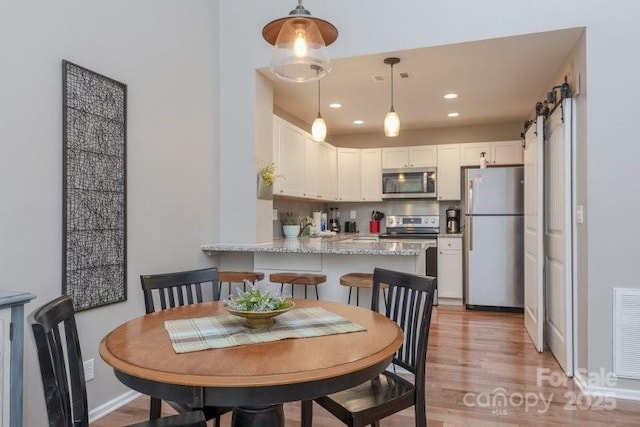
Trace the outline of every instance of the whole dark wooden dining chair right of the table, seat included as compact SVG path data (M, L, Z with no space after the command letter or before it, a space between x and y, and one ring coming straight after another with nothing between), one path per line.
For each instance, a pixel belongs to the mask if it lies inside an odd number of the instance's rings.
M427 342L436 278L376 268L371 300L374 311L379 308L382 284L388 285L385 315L404 332L402 347L392 361L393 372L387 370L370 381L315 402L352 427L379 426L381 419L413 406L416 426L425 427ZM396 373L396 366L410 372L413 381ZM312 404L302 402L303 426L311 425Z

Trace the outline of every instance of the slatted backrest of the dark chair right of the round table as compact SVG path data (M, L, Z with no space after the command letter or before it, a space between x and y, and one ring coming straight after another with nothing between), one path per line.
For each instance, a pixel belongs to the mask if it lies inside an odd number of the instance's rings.
M436 278L376 268L373 272L371 309L379 311L380 284L389 285L385 315L404 332L402 347L393 363L423 378ZM416 380L417 381L417 380Z

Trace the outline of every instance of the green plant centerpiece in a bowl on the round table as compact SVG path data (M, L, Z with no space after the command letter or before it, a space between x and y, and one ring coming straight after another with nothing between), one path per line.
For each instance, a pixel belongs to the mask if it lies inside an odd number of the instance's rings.
M260 289L245 281L248 291L237 290L237 296L224 301L224 308L229 313L246 319L245 325L252 329L265 329L273 326L274 317L290 310L293 301L283 297L279 292Z

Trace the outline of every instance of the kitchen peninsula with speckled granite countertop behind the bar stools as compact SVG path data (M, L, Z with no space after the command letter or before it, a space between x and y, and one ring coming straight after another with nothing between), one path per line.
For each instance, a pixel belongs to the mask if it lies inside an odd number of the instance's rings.
M326 274L320 298L346 302L348 288L340 286L346 273L373 273L376 267L424 274L427 244L420 241L380 239L374 235L340 234L331 237L274 239L258 244L207 244L201 249L220 257L221 270L254 270L269 274L291 271ZM296 289L296 297L299 297ZM368 306L363 294L360 304Z

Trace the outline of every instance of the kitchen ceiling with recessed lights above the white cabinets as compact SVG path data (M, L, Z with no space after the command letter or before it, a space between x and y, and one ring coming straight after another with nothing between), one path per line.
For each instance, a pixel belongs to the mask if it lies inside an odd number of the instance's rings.
M332 71L320 81L328 134L383 132L391 105L390 67L383 62L389 56L400 58L394 66L393 103L401 131L524 121L551 89L583 30L334 59ZM305 123L313 122L318 114L317 82L284 82L268 68L259 71L273 81L276 107ZM409 77L400 77L402 73ZM458 98L444 99L449 92ZM332 102L343 107L329 108ZM447 117L454 111L459 117ZM356 119L364 124L354 125Z

